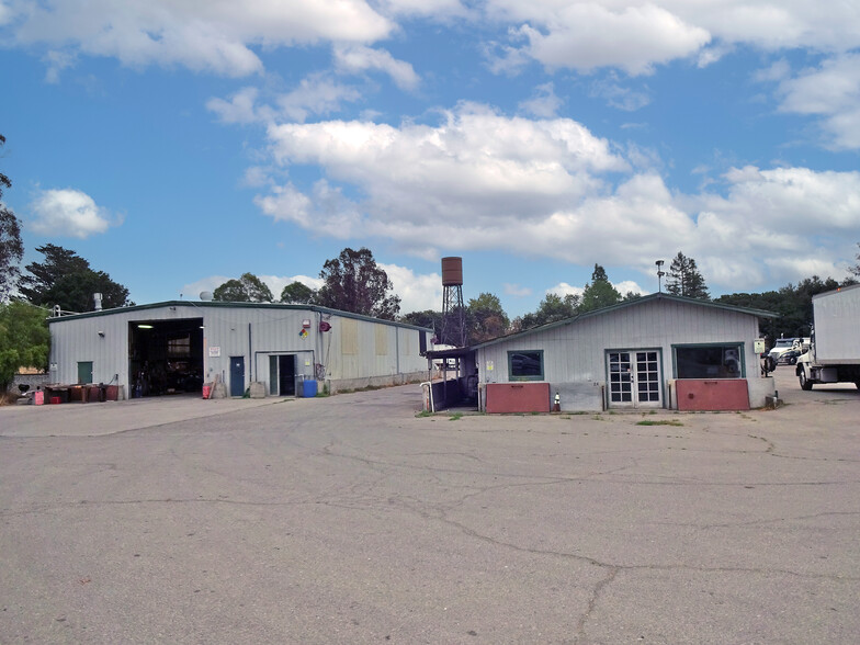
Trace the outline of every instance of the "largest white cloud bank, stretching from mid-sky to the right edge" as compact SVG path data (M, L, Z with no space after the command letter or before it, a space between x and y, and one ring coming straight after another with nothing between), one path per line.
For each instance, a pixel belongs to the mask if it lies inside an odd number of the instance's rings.
M823 249L844 265L860 230L858 172L749 166L683 194L634 161L637 150L625 159L567 118L464 104L437 125L329 121L268 134L275 166L318 166L326 177L261 194L263 213L339 239L385 239L427 259L440 248L498 250L635 267L653 280L655 259L681 250L716 291L737 291L796 280L791 265L807 265ZM618 287L642 292L635 282Z

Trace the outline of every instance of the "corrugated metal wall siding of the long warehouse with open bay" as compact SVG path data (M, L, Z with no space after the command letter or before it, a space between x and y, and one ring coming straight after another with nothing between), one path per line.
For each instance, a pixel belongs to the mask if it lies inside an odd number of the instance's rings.
M205 381L212 381L215 375L228 377L230 357L244 357L246 380L268 382L269 357L285 353L297 355L297 373L306 377L315 376L315 364L322 364L326 377L331 380L427 369L427 361L418 355L417 338L425 333L429 346L431 335L426 331L312 309L176 304L54 319L52 382L75 383L78 362L92 361L94 382L109 383L118 374L118 384L127 387L129 324L189 318L203 319ZM330 331L319 331L320 319L331 325ZM310 321L309 327L305 327L306 320ZM306 337L299 335L303 328L307 330ZM344 330L347 349L354 351L353 354L344 354ZM104 336L99 336L99 331ZM214 348L218 348L219 355L210 355Z

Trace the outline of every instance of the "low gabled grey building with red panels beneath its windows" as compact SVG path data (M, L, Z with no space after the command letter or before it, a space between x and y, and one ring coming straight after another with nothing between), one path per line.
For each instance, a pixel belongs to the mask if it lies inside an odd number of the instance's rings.
M766 405L759 319L774 314L653 294L469 348L489 412ZM763 351L763 349L759 349ZM474 353L473 353L474 352Z

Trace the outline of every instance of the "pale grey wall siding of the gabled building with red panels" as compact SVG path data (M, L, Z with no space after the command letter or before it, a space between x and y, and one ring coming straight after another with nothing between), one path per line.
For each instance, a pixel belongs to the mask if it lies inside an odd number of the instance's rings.
M663 377L672 378L674 344L742 342L747 375L757 375L752 340L758 320L748 314L655 301L502 341L478 350L480 380L509 381L508 351L544 350L544 380L604 382L606 350L660 349ZM487 362L494 364L487 370Z

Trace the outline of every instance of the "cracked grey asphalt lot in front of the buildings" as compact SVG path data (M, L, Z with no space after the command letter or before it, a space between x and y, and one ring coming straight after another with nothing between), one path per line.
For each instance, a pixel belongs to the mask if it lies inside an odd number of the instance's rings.
M0 643L856 643L860 393L0 409Z

